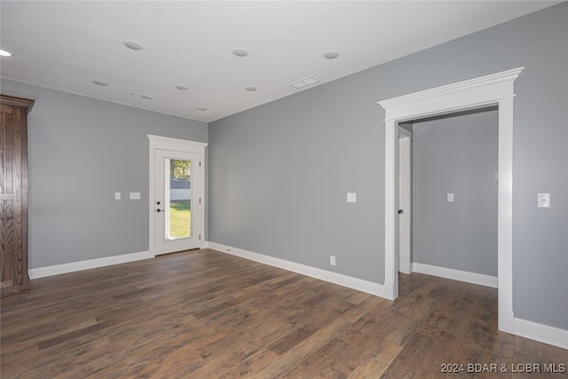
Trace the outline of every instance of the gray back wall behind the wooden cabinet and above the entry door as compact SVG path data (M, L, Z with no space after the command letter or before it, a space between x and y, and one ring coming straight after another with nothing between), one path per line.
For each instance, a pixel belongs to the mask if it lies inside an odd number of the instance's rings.
M28 118L30 268L147 251L146 135L207 142L207 124L8 80L1 91L36 99Z

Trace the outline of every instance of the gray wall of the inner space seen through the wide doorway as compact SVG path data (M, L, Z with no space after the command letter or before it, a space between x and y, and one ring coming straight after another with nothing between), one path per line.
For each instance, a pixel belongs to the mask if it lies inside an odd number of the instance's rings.
M413 262L497 276L498 111L413 130Z

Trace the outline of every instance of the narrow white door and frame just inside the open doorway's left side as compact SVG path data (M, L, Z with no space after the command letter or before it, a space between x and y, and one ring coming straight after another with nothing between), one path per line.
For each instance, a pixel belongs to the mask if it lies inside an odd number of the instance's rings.
M398 271L412 272L412 132L398 126Z

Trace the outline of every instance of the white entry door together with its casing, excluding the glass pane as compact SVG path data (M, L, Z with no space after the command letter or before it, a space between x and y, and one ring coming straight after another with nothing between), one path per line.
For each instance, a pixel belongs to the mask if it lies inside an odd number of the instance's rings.
M205 147L209 144L148 135L150 141L150 184L149 184L149 250L150 256L185 249L203 248L205 245ZM170 239L166 231L169 220L169 182L166 159L191 161L191 236ZM161 204L158 205L157 201ZM160 212L157 209L161 209ZM167 229L169 230L169 228Z

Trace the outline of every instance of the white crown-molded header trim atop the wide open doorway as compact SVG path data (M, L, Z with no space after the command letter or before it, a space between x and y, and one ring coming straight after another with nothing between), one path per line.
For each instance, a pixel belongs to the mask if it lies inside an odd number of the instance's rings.
M379 101L385 119L401 121L407 114L427 116L447 109L479 107L514 96L513 83L525 67L517 67L493 75L485 75L459 83L419 91L398 98Z

